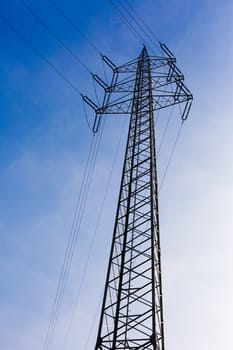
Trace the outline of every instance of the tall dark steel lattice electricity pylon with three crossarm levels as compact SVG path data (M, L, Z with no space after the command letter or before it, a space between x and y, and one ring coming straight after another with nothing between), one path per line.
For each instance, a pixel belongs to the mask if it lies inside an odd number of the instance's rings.
M160 259L158 181L154 111L180 104L185 120L192 95L183 83L170 50L162 57L143 48L138 59L112 68L102 106L83 96L101 116L130 114L117 213L95 350L164 350L163 297Z

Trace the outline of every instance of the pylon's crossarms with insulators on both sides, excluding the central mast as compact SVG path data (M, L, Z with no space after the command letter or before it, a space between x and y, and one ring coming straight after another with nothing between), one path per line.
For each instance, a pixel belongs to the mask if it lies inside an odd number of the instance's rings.
M176 66L176 59L166 45L161 44L163 57L148 56L151 71L152 109L153 111L173 106L182 107L182 119L188 116L192 94L184 85L184 76ZM96 118L93 132L98 131L101 116L103 114L131 114L133 96L135 92L135 79L138 59L132 60L122 66L115 66L109 58L102 56L103 60L113 71L110 86L100 77L93 74L93 79L104 89L104 98L101 106L98 106L89 97L82 96L83 100L95 110Z

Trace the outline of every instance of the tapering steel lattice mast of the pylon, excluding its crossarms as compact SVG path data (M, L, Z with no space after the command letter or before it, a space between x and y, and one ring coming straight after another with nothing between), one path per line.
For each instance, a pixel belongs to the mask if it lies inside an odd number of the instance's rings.
M134 81L96 350L164 349L153 77L145 47Z

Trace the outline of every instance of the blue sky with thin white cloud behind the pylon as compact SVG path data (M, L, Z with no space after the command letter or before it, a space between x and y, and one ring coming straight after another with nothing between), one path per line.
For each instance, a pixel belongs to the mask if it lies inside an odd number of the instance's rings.
M103 76L98 54L49 2L28 3L91 71ZM57 3L116 64L139 54L141 43L110 1ZM131 4L175 53L194 95L190 117L160 193L167 349L230 348L233 3L132 0ZM2 3L0 13L79 90L94 96L90 74L20 1ZM91 133L80 96L2 21L0 41L0 348L39 350L43 348ZM106 118L52 349L62 349L106 183L113 171L66 349L83 349L87 343L103 290L124 142L116 162L114 156L126 126L126 118ZM159 159L160 176L175 127ZM87 350L93 349L96 327L97 323Z

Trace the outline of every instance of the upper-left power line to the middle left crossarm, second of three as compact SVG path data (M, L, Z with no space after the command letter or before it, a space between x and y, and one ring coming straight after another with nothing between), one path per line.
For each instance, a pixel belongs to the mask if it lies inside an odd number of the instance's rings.
M85 63L83 63L80 58L54 33L52 29L32 10L32 8L27 4L25 0L19 0L24 8L36 19L42 27L67 51L69 54L88 72L91 73L90 69Z

